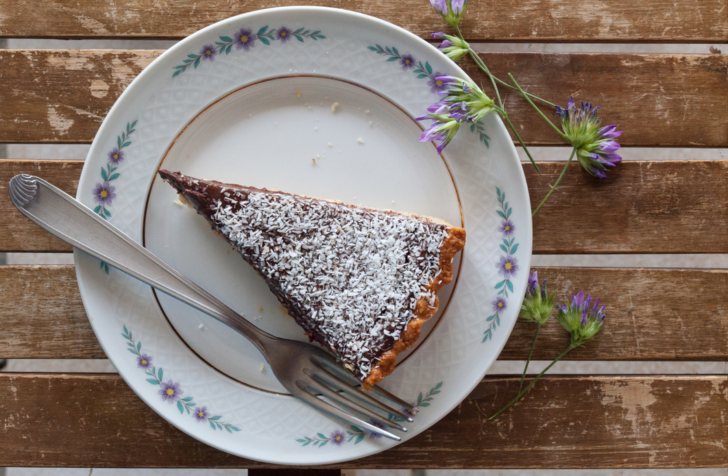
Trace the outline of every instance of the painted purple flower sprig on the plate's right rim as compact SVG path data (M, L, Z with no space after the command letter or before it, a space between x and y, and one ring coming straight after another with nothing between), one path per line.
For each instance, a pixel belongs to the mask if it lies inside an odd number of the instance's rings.
M510 219L510 214L513 208L510 204L505 201L505 192L496 187L496 194L498 195L498 205L500 210L496 210L500 218L500 226L498 232L502 234L503 242L500 244L500 249L505 255L499 257L499 261L496 262L496 269L498 269L498 275L502 276L503 279L496 284L496 293L494 301L491 302L493 305L493 315L486 319L489 322L488 328L483 333L483 342L493 338L493 331L497 326L500 325L500 315L508 307L508 291L513 293L513 282L510 278L515 277L518 273L518 258L515 257L515 252L518 250L518 243L515 242L515 224Z

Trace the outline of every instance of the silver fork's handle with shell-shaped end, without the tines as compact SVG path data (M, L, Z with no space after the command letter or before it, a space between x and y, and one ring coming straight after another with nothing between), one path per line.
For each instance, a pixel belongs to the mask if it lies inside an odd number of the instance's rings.
M42 229L229 325L267 359L264 339L276 337L257 328L74 197L42 178L25 174L10 179L8 191L20 213Z

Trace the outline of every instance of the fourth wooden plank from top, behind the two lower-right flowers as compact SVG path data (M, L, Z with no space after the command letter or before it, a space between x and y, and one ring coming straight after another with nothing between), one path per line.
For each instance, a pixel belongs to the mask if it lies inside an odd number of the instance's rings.
M559 288L560 301L589 290L607 305L604 330L566 360L728 360L728 271L538 271ZM0 328L0 358L106 357L73 266L0 266ZM525 360L534 332L534 325L519 321L499 359ZM551 360L568 345L568 334L552 319L541 330L534 359Z

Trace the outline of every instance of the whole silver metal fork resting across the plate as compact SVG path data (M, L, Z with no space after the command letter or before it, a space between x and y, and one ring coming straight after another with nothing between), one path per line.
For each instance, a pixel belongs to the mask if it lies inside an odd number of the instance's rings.
M312 407L397 441L400 440L397 435L355 414L402 432L407 429L393 421L394 417L389 419L389 415L413 421L371 394L357 389L360 381L319 347L277 338L258 329L90 208L47 181L33 175L15 175L10 180L8 190L13 205L42 229L162 293L209 314L247 337L261 351L285 389ZM379 386L373 386L372 390L401 408L416 411L413 405ZM384 412L387 416L372 409Z

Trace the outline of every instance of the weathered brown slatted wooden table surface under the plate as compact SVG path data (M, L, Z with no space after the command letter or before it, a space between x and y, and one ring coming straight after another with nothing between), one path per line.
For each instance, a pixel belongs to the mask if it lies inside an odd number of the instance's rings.
M427 0L0 0L0 38L181 39L232 15L297 4L363 12L423 38L446 30ZM462 29L472 41L726 44L728 0L470 0ZM90 143L119 94L160 53L0 50L0 143ZM728 148L728 55L481 56L494 74L510 71L534 94L597 101L605 124L625 130L624 146ZM483 82L469 60L462 65ZM103 94L92 87L100 82ZM559 144L512 92L506 103L526 143ZM75 194L83 163L49 159L0 160L0 252L70 250L17 213L6 190L12 175L26 172ZM606 181L573 165L534 218L534 253L728 253L727 165L626 162ZM560 168L542 163L537 176L524 164L532 205ZM568 360L728 360L728 271L542 268L539 277L559 283L560 298L585 289L609 303L604 330ZM0 358L105 357L73 266L1 266L0 327ZM542 330L535 359L553 359L566 346L558 327L552 320ZM519 322L499 358L523 360L532 332ZM517 386L517 378L488 376L431 429L343 466L728 465L724 374L547 376L516 409L487 422ZM270 467L184 435L116 374L0 373L0 421L0 467Z

